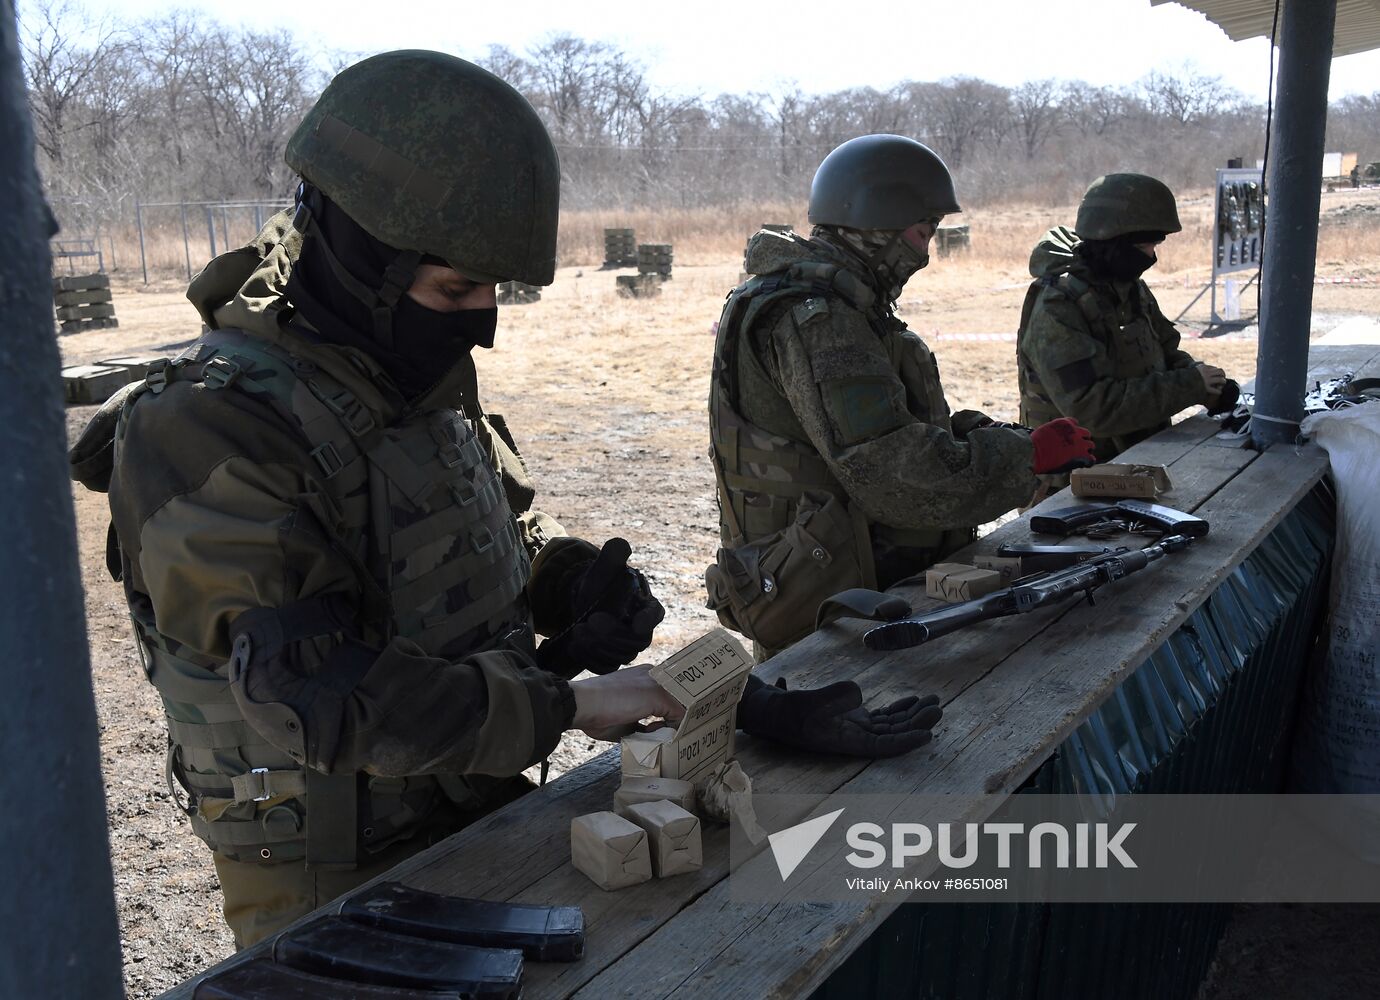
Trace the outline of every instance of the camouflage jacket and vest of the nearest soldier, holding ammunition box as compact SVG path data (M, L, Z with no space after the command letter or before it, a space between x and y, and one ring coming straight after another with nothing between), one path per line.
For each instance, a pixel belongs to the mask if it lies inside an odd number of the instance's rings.
M197 834L348 866L443 800L482 806L569 727L524 596L564 532L529 510L501 419L453 406L472 368L404 406L287 321L298 239L276 217L193 283L211 331L117 401L109 494Z

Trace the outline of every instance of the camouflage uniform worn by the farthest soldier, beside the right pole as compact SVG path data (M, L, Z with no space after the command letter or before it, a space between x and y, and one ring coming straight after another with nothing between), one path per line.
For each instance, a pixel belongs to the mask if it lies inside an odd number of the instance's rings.
M1016 348L1021 422L1071 417L1107 461L1212 396L1145 283L1097 277L1076 244L1052 229L1031 254Z

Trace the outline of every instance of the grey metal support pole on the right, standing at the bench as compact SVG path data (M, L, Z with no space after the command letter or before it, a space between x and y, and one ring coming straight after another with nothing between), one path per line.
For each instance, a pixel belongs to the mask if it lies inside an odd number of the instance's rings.
M1257 448L1294 440L1303 419L1336 19L1337 0L1283 0L1279 17L1256 408L1250 421Z

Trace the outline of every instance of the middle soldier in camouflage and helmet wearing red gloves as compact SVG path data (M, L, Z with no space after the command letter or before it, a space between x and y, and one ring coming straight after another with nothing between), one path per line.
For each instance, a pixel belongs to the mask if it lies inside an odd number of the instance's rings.
M959 211L930 149L864 135L810 188L809 239L763 230L724 305L709 389L720 541L709 607L767 657L825 597L887 588L1090 461L1086 433L949 412L938 366L897 319L929 241Z

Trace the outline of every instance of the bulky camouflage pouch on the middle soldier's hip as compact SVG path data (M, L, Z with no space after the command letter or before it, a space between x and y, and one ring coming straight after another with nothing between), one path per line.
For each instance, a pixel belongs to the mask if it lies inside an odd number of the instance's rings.
M705 570L707 607L734 632L780 650L814 632L814 617L829 596L872 586L858 526L847 506L825 492L806 491L795 520L766 538L719 549Z

